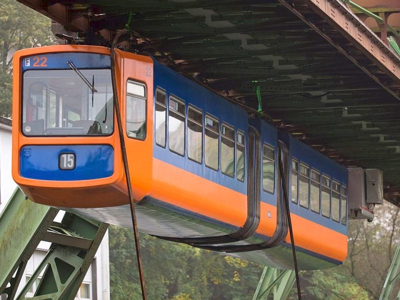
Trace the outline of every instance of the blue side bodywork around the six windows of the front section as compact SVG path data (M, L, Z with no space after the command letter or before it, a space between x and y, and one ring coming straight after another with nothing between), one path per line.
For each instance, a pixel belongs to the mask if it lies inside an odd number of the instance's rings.
M192 106L199 108L202 111L203 123L205 114L208 113L219 119L219 131L222 125L222 121L226 124L233 126L235 128L235 134L237 134L236 133L237 130L242 131L245 136L244 143L245 145L247 144L246 140L247 114L243 109L240 109L238 106L233 105L232 103L228 102L226 99L219 96L218 94L198 85L197 83L193 82L192 80L186 77L183 77L182 75L174 72L173 70L158 63L157 61L154 61L154 97L157 87L166 91L168 101L170 95L174 95L179 99L184 100L186 115L187 115L187 107L190 104ZM168 105L166 106L168 107ZM168 109L166 117L168 119ZM186 125L187 124L185 124L185 128ZM154 158L165 161L169 164L172 164L190 173L206 178L217 184L226 186L242 194L247 194L246 175L244 178L244 182L241 182L237 180L235 177L231 178L225 174L222 174L220 167L217 171L206 167L204 164L204 159L202 159L202 163L197 163L187 158L187 155L180 156L176 153L173 153L168 148L168 132L166 134L165 139L166 139L165 140L166 146L165 148L163 148L155 143L155 136L153 135ZM203 148L204 148L204 141L203 141ZM245 150L245 161L247 161L246 150ZM245 164L244 169L246 170L246 168L247 165ZM246 174L247 172L245 171L244 173Z

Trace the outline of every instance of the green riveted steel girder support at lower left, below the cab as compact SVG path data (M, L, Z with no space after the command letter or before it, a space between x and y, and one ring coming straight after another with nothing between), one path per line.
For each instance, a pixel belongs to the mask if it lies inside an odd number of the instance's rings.
M32 299L72 300L100 245L108 224L26 200L17 188L0 216L0 295L22 300L43 273ZM40 240L50 241L45 258L15 297L26 262ZM4 270L4 272L3 272ZM43 272L44 271L44 272ZM13 275L15 273L15 275Z

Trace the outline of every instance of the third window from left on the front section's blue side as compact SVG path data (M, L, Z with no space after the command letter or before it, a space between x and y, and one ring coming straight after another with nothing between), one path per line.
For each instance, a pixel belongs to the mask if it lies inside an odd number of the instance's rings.
M203 115L200 110L187 109L187 157L201 163L203 156Z

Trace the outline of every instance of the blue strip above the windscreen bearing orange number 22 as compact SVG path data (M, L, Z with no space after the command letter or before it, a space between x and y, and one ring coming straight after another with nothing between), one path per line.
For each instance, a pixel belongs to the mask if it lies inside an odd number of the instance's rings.
M45 58L44 58L45 57ZM73 62L77 68L109 68L110 57L94 53L48 53L45 55L32 55L22 58L22 72L31 69L70 69L68 61ZM36 63L36 66L34 64Z

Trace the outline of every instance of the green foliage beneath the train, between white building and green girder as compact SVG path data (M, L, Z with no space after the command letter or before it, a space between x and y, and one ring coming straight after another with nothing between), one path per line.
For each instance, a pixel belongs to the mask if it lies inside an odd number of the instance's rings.
M111 298L140 298L133 232L109 230ZM145 234L140 246L149 299L247 299L262 271L254 263Z

